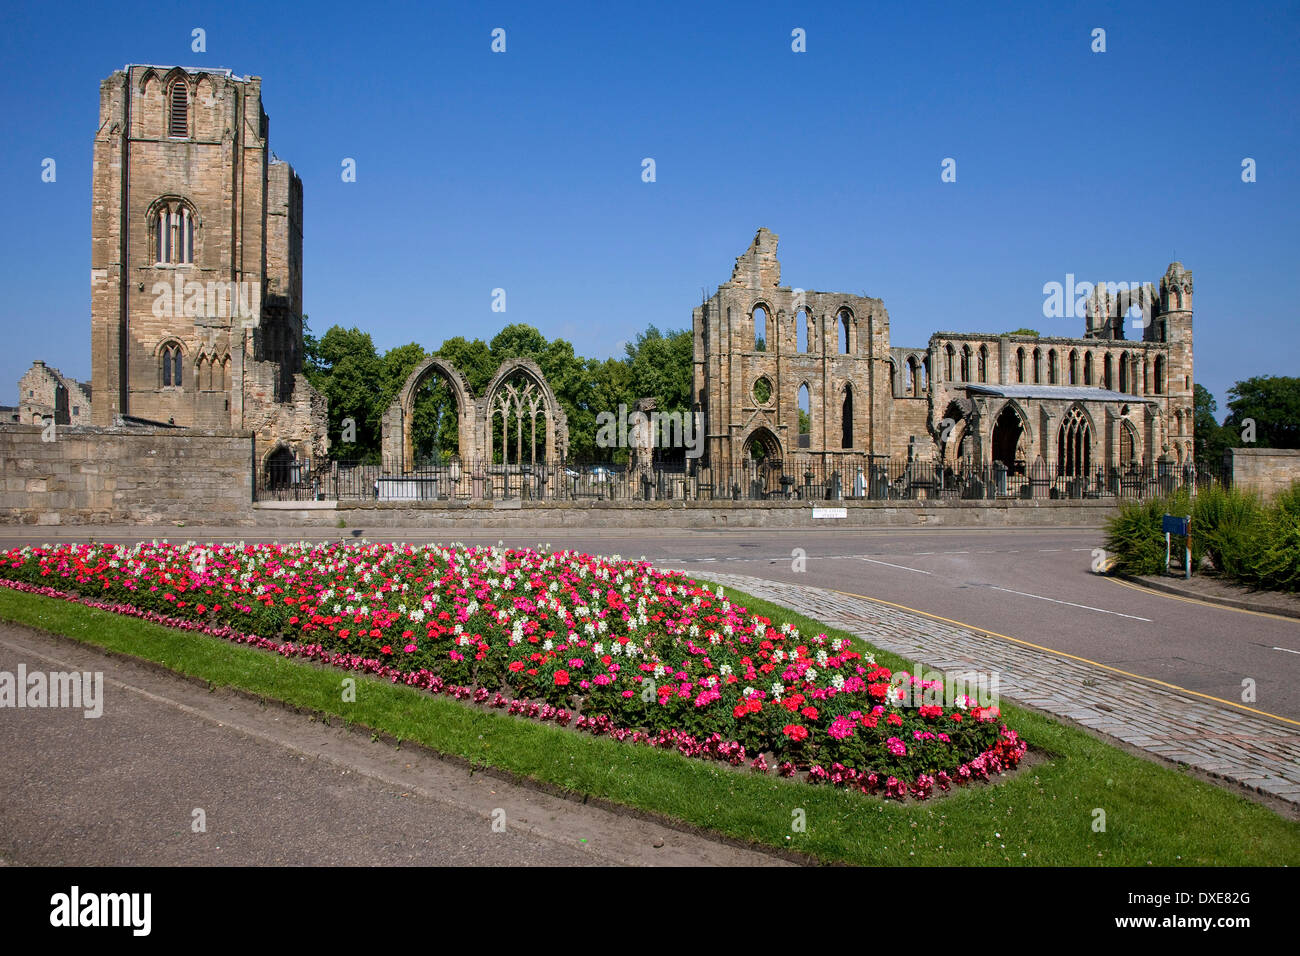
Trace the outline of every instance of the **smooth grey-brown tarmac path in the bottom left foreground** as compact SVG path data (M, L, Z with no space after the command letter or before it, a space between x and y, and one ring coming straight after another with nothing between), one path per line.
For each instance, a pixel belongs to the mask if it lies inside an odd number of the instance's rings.
M18 665L101 671L103 714L0 709L0 865L785 862L0 624Z

